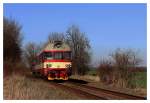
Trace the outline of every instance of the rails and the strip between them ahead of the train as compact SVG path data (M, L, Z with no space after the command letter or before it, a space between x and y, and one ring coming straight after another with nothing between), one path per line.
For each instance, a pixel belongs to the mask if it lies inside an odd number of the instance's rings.
M70 82L70 81L68 81L64 84L67 86L70 86L70 87L75 87L84 92L88 92L88 93L90 92L91 94L94 94L96 96L99 96L99 97L102 97L105 99L146 100L146 97L135 96L135 95L120 93L120 92L116 92L116 91L96 88L93 86L80 84L80 83L74 83L74 82Z

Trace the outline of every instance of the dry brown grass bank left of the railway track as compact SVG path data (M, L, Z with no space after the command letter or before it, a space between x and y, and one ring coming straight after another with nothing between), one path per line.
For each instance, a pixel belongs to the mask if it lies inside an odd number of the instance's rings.
M4 78L3 98L6 100L81 99L42 79L15 74Z

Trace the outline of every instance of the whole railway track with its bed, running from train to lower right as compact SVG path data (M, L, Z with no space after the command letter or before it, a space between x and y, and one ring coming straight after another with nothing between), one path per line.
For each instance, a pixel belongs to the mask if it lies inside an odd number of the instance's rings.
M43 80L43 79L42 79ZM47 80L46 80L47 81ZM49 81L47 81L49 82ZM146 100L146 97L134 96L116 91L96 88L86 84L77 82L50 82L51 85L59 87L63 90L75 93L83 99L89 100Z

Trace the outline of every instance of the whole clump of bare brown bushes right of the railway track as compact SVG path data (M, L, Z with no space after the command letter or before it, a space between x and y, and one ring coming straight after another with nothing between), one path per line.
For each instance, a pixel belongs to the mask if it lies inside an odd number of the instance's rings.
M103 59L98 67L102 82L111 82L121 87L133 87L131 83L134 74L131 69L136 68L142 60L138 53L132 49L116 49L108 60Z

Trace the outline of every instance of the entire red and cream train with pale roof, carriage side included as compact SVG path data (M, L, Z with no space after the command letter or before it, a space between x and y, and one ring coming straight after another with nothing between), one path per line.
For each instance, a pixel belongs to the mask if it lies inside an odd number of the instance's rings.
M72 74L72 52L63 41L49 42L37 53L32 74L48 80L68 80Z

